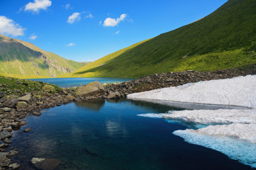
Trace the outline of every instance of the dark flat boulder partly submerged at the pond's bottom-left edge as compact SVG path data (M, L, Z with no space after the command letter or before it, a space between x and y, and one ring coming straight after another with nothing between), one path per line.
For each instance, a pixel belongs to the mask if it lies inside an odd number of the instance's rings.
M34 164L36 168L43 170L53 170L60 164L59 159L45 159L41 162Z

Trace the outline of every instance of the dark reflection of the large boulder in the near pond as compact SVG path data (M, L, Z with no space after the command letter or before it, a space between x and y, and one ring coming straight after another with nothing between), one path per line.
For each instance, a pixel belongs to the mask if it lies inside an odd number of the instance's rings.
M100 109L105 105L105 100L100 101L78 101L75 102L76 106L80 108L90 109L92 111L100 111Z

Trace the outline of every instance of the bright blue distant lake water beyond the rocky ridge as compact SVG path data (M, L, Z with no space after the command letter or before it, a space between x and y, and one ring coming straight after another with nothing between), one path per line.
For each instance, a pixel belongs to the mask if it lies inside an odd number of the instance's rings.
M50 78L50 79L30 79L33 81L43 81L45 83L56 84L60 87L74 87L88 84L92 81L100 81L101 84L105 83L117 83L124 82L133 79L122 79L122 78Z

